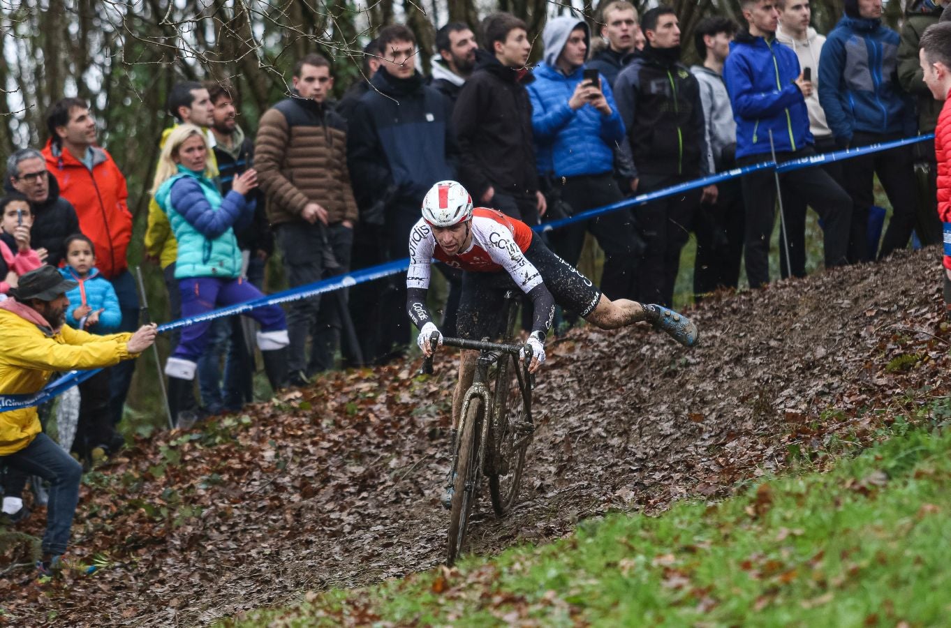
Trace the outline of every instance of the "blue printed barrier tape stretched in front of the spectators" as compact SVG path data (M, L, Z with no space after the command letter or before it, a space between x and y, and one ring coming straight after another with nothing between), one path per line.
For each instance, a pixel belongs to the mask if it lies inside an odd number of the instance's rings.
M891 150L892 148L897 148L899 146L904 146L912 143L925 142L927 140L934 139L934 134L928 135L919 135L914 138L905 138L903 140L896 140L894 142L886 143L875 143L869 144L867 146L862 146L860 148L840 150L833 153L825 153L823 155L813 155L811 157L804 157L798 160L791 160L789 162L782 162L778 166L775 162L759 162L751 165L733 168L732 170L727 170L725 172L720 172L715 175L710 175L708 177L703 177L701 179L695 179L692 181L685 181L683 183L678 183L677 185L672 185L666 187L662 190L656 190L654 192L649 192L648 194L641 194L631 199L621 200L619 202L612 203L610 205L605 205L603 207L597 207L595 209L589 210L587 212L581 212L580 214L575 214L571 217L565 219L553 220L551 222L546 222L544 224L539 224L533 227L533 230L536 232L547 233L553 231L554 229L559 229L569 224L575 222L581 222L583 220L589 220L592 218L597 218L604 214L610 214L611 212L616 212L621 209L626 209L629 207L634 207L637 205L643 205L644 203L650 202L651 200L664 199L670 196L681 194L687 192L688 190L693 190L698 187L707 187L708 185L713 185L721 181L728 181L730 179L736 179L738 177L743 177L752 172L757 172L759 170L767 170L775 168L778 172L790 172L792 170L798 170L800 168L809 168L817 165L822 165L823 163L830 162L840 162L843 160L851 159L854 157L859 157L861 155L867 155L869 153L881 152L885 150ZM262 298L255 299L253 301L247 301L245 303L239 303L238 305L228 306L220 310L212 310L206 312L205 314L199 314L197 316L189 316L188 318L182 318L175 320L169 323L163 323L159 325L159 332L167 332L169 330L178 329L180 327L186 327L188 325L193 325L198 322L206 320L214 320L216 318L222 318L224 316L231 316L234 314L245 314L251 310L261 308L266 305L278 305L281 303L286 303L288 301L296 301L304 298L309 298L311 296L322 295L324 293L333 292L335 290L340 290L342 288L349 288L355 286L359 283L364 283L366 281L373 281L375 279L382 278L384 276L396 275L401 273L409 268L409 258L398 259L396 261L387 262L385 264L379 264L378 266L371 266L370 268L364 268L353 273L348 273L346 275L333 276L328 279L322 279L316 283L307 284L306 286L299 286L297 288L292 288L290 290L285 290L281 293L275 293L274 295L263 296ZM93 371L69 371L63 377L60 377L52 384L49 384L43 390L35 394L10 394L10 395L0 395L0 410L9 411L13 409L23 409L29 408L30 406L38 406L49 399L57 396L62 393L64 390L76 386L80 382L86 381L89 377L99 372L99 369Z

